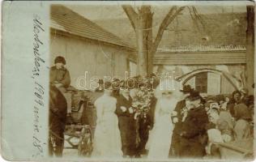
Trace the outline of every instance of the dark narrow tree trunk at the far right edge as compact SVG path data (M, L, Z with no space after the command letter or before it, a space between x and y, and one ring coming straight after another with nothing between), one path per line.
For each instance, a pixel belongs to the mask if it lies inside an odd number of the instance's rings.
M247 6L246 31L246 87L251 95L254 94L254 6Z

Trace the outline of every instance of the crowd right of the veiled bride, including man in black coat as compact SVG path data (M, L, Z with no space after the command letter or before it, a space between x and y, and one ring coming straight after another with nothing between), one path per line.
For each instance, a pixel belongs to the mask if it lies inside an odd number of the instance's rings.
M254 96L248 96L248 91L242 89L234 91L230 97L224 95L207 96L206 99L202 97L200 104L205 113L197 115L194 113L194 108L191 109L190 97L185 96L185 100L178 102L175 109L177 119L173 120L174 156L232 158L232 152L225 151L214 143L230 143L232 146L253 151ZM191 117L193 114L194 117ZM200 131L203 134L200 135ZM186 135L183 135L183 132L186 132Z

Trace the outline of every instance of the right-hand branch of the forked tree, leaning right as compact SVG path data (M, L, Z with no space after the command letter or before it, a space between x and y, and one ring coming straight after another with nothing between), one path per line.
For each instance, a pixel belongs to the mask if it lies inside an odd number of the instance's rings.
M157 32L156 35L156 40L154 41L152 48L151 48L151 52L152 51L156 51L156 48L158 47L158 45L160 44L160 40L162 39L162 36L164 34L164 30L165 28L167 28L169 26L170 23L172 23L173 19L176 18L176 16L184 10L186 6L181 6L177 9L177 6L173 6L170 10L169 13L164 17L164 20L162 21L162 23L160 24L160 28Z

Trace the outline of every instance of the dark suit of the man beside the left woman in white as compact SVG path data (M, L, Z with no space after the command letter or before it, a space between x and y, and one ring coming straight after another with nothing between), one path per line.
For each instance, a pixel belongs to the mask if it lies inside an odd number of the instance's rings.
M118 117L118 126L122 139L122 151L126 156L134 156L136 151L136 122L134 113L129 112L132 105L132 99L126 100L122 95L117 96L117 109L115 113ZM121 107L126 107L126 111L122 112Z

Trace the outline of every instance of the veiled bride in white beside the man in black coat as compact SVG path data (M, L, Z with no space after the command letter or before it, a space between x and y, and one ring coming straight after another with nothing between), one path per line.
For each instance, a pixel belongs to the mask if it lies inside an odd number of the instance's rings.
M169 88L161 88L155 110L155 123L148 140L148 158L166 160L169 158L169 150L173 134L171 115L177 104L173 91Z

